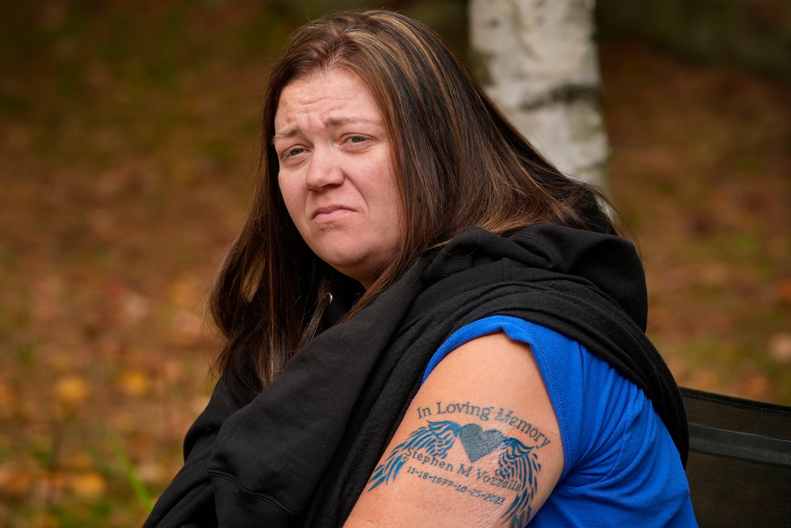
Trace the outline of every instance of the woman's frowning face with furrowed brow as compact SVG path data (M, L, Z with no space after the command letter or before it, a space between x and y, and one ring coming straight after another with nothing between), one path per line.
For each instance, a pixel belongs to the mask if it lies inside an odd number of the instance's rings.
M384 120L347 70L290 82L274 114L278 184L313 253L369 287L402 239L404 222Z

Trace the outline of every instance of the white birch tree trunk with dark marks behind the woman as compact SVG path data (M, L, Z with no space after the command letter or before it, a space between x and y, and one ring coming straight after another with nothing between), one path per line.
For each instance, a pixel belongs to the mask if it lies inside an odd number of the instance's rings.
M563 172L608 192L594 0L470 0L479 81Z

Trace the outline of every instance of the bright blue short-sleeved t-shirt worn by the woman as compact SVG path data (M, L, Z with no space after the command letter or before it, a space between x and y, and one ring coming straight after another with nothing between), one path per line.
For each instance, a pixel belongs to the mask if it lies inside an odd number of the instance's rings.
M517 317L496 315L454 332L426 367L503 331L527 343L560 424L565 464L530 526L698 526L679 452L634 383L576 341Z

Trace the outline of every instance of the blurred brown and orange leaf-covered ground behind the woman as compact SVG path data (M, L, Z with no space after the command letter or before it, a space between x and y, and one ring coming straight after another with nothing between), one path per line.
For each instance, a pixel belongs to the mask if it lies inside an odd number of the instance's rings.
M4 5L0 527L145 519L213 386L204 305L267 67L296 25L360 3ZM649 335L684 386L791 405L791 5L598 3ZM388 5L466 52L465 2Z

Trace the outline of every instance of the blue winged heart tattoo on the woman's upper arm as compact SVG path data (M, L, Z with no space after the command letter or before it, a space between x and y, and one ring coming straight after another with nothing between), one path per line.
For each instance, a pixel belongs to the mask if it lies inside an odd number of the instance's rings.
M520 487L517 496L508 509L501 515L501 524L508 523L509 528L521 528L527 524L532 513L532 499L538 490L536 477L541 471L535 446L525 446L519 440L506 437L497 429L483 431L478 424L460 425L449 420L429 422L424 427L418 427L403 443L395 446L388 458L374 469L373 476L368 481L371 484L368 491L377 488L380 484L387 485L395 481L399 470L409 460L412 453L419 450L422 454L444 459L448 450L460 440L464 452L470 462L500 450L498 467L494 475L501 482L518 482ZM471 479L480 480L486 472L479 472L478 477L469 472L462 473ZM486 480L492 482L496 479ZM493 484L497 486L498 484Z

